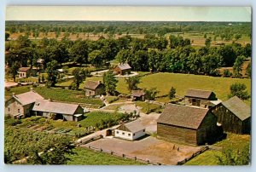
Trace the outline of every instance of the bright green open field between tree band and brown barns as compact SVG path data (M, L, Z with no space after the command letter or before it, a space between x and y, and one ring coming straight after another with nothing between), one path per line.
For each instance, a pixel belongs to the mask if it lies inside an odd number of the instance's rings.
M180 96L185 95L187 89L207 89L215 92L219 99L227 100L232 83L245 83L248 92L250 93L251 91L251 79L208 77L166 72L142 77L139 88L150 89L156 87L160 91L159 95L167 95L173 86L176 89L177 95ZM126 90L123 92L126 92Z

